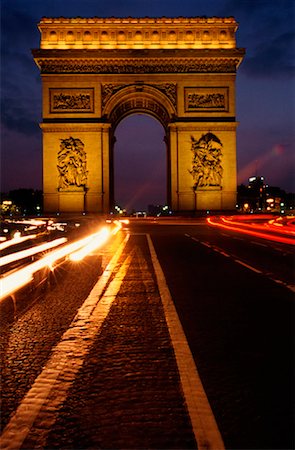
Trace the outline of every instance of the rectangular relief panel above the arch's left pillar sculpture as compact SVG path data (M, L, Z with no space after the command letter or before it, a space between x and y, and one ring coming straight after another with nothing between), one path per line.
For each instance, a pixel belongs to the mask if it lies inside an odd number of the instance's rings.
M94 113L94 88L49 89L51 113Z

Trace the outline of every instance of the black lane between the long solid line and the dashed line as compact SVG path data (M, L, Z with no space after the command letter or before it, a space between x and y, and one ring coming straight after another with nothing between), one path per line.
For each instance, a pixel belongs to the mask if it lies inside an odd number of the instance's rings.
M292 293L171 228L156 231L153 243L225 446L292 448Z

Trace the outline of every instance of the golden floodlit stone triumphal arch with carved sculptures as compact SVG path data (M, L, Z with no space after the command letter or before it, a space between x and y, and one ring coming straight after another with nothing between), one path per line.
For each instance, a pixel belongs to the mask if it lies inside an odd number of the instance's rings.
M234 209L234 18L42 18L39 30L45 211L110 211L115 130L134 113L163 125L173 211Z

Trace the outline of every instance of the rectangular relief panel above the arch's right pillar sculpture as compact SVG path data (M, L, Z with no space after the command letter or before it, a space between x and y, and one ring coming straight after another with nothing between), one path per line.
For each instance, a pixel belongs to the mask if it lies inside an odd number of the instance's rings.
M228 87L185 87L185 112L228 112Z

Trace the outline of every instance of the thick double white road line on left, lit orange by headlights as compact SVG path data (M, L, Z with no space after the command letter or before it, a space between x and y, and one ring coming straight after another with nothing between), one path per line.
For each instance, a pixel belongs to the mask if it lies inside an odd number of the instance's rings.
M31 428L38 422L38 415L42 414L42 408L46 413L46 426L38 428L37 439L38 448L44 448L50 426L56 420L56 413L66 399L67 391L75 380L76 374L84 362L85 355L90 350L102 323L108 315L112 302L115 300L126 275L131 262L130 256L109 283L129 236L128 234L121 243L102 276L79 308L70 327L54 347L52 356L43 371L36 378L33 386L3 430L0 436L1 450L19 450L21 448ZM53 395L52 399L49 397L53 389L57 392L57 395Z

